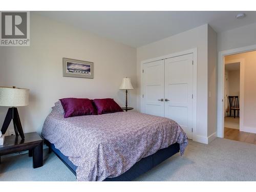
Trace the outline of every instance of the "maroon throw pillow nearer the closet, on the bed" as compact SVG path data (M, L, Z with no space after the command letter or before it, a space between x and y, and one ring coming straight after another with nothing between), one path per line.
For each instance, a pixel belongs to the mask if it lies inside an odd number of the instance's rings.
M93 99L93 103L96 106L98 115L123 111L114 99Z

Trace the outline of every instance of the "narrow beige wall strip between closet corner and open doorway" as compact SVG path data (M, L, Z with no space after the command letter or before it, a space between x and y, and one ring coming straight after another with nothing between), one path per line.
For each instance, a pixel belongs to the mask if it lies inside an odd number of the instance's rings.
M217 116L217 33L208 25L207 30L208 61L208 132L207 136L216 133ZM212 136L213 139L215 136Z

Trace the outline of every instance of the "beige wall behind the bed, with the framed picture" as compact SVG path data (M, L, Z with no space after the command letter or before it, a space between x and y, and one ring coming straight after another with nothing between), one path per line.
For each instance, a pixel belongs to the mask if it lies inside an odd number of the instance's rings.
M136 49L31 13L30 47L0 47L0 86L30 89L29 106L19 113L25 132L40 133L54 102L63 97L114 98L123 77L136 88ZM62 57L94 62L94 79L62 77ZM136 108L136 90L129 91ZM6 107L0 107L2 126ZM9 127L10 129L10 127Z

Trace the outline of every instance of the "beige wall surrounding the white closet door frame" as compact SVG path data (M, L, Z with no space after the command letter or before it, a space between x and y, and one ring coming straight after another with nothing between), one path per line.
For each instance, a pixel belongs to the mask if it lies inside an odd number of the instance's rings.
M138 88L140 87L141 61L193 48L198 49L196 134L204 138L207 137L207 28L208 25L205 24L137 49ZM139 89L137 95L137 108L140 109Z

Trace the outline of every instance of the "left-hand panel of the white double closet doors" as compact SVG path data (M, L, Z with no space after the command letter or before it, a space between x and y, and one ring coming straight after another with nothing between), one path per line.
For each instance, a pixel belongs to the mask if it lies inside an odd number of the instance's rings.
M143 109L146 114L164 116L164 60L143 64Z

